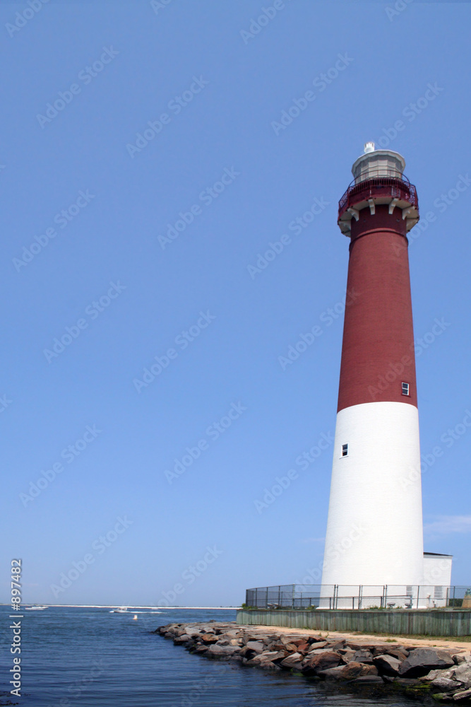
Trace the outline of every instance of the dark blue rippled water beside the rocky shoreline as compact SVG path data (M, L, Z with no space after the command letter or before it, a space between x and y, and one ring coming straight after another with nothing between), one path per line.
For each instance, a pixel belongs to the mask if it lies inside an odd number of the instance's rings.
M131 610L132 611L132 610ZM141 610L143 611L143 610ZM150 633L170 621L233 621L235 612L170 609L110 614L109 609L49 607L23 612L22 695L11 696L10 607L0 607L0 705L35 707L411 707L397 696L360 695L285 672L270 674L191 655ZM10 701L11 700L11 701Z

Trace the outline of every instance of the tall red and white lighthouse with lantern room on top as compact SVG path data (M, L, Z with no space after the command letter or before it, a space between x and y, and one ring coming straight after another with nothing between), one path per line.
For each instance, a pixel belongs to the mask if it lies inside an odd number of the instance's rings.
M339 608L351 608L362 587L382 596L390 586L407 605L424 583L407 247L419 206L404 169L400 154L366 143L339 203L338 225L350 241L349 304L321 590Z

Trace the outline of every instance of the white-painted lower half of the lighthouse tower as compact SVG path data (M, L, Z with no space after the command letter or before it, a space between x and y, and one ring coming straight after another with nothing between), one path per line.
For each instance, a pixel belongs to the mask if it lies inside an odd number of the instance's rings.
M348 445L342 456L342 445ZM321 597L352 608L363 587L379 605L410 603L424 583L419 416L413 405L371 402L338 413ZM342 597L345 602L341 601ZM326 603L327 602L327 603ZM320 608L328 608L329 600ZM331 602L331 600L330 600Z

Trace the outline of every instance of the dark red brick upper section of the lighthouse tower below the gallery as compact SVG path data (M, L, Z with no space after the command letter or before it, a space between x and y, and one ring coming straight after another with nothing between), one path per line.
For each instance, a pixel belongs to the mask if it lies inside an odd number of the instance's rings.
M400 209L390 215L388 206L376 206L374 216L362 209L359 221L352 221L347 293L338 410L377 401L417 407L409 259ZM402 395L403 381L410 384L410 397Z

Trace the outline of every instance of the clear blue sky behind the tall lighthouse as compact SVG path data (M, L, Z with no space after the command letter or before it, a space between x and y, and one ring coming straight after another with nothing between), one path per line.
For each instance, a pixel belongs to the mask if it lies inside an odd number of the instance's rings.
M471 581L471 5L276 6L1 4L3 601L17 556L24 600L64 604L155 603L175 584L177 604L237 604L319 566L332 446L296 460L335 429L337 204L381 137L430 216L410 247L422 452L442 452L425 547ZM166 474L186 448L198 458Z

